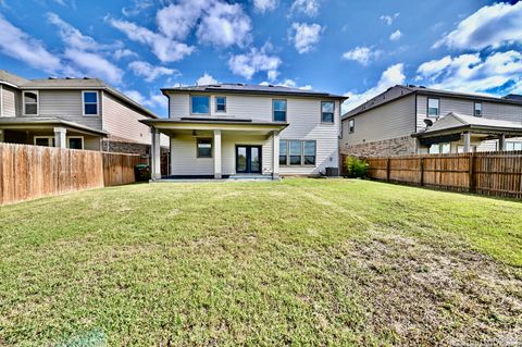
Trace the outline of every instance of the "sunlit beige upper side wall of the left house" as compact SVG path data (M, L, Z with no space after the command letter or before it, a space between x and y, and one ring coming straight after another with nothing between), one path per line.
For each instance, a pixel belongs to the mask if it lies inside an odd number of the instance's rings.
M108 92L103 92L101 100L105 132L121 139L150 145L150 128L139 123L139 120L146 120L147 116L128 108Z

